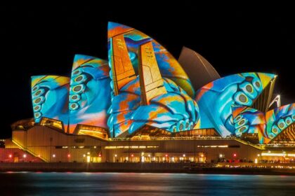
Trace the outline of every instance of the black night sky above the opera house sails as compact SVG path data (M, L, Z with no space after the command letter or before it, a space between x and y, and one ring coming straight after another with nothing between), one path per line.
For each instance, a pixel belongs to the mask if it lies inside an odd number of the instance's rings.
M107 21L145 32L176 58L185 45L203 55L221 76L246 71L277 73L275 93L281 94L282 104L295 101L295 15L291 6L213 8L189 1L170 6L145 3L138 8L131 8L132 3L0 7L0 138L11 137L11 123L32 117L30 76L70 76L77 53L107 58Z

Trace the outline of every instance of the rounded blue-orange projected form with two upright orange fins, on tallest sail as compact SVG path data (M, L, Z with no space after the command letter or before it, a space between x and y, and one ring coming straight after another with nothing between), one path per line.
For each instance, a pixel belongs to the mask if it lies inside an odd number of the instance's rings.
M108 126L114 137L144 125L169 132L190 130L199 119L195 101L169 78L162 78L151 41L140 45L138 73L122 35L110 38L112 109Z

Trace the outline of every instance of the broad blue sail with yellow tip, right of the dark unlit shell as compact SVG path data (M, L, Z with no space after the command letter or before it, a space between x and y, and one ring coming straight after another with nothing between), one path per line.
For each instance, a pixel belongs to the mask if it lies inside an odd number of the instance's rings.
M232 105L252 106L273 78L275 75L269 73L240 73L202 87L196 94L200 128L214 127L223 137L235 134Z

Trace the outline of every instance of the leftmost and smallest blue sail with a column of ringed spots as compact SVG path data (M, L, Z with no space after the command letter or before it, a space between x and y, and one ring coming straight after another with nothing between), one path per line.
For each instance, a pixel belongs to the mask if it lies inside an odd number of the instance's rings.
M70 78L63 76L32 76L34 119L54 118L67 125Z

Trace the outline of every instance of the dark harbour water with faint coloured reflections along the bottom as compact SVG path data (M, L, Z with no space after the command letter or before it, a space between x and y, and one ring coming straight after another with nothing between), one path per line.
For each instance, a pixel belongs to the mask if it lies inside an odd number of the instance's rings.
M0 173L0 195L294 195L295 176Z

